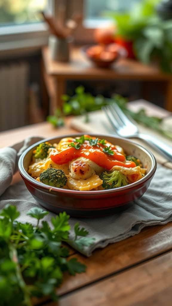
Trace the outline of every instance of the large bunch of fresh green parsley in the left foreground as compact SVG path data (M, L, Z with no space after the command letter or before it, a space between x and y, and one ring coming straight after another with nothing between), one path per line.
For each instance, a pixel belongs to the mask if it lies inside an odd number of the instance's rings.
M57 300L56 288L64 272L82 273L86 266L76 258L68 259L69 216L65 212L51 218L51 228L42 221L47 211L34 207L27 215L36 219L36 226L16 219L16 206L6 205L0 212L0 297L1 305L31 306L32 297L49 295ZM40 221L42 221L40 225ZM88 231L74 226L73 244L83 249L93 243ZM27 281L26 281L27 280Z

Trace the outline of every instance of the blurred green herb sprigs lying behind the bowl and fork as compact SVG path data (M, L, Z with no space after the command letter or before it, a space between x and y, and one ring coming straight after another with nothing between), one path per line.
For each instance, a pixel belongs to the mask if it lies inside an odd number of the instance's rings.
M109 99L102 95L94 97L91 93L86 93L83 86L79 86L76 88L73 96L70 97L69 95L63 95L62 99L64 101L62 112L57 109L54 116L47 117L47 121L49 121L54 127L64 124L63 118L68 115L85 115L85 121L89 122L89 112L100 110L102 106L107 104L117 103L125 114L128 114L139 124L145 125L172 139L172 132L162 127L162 118L148 116L144 108L137 112L133 112L128 108L127 99L121 95L114 95Z

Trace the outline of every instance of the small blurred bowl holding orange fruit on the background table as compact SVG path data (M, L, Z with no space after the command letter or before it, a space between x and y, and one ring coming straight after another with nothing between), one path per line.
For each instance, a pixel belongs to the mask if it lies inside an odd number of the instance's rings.
M81 52L84 54L85 58L87 58L90 62L92 62L95 66L99 68L109 68L114 62L117 62L120 58L127 57L127 50L118 45L117 56L113 60L102 60L97 58L92 58L87 54L87 50L93 47L93 45L86 45L81 48Z

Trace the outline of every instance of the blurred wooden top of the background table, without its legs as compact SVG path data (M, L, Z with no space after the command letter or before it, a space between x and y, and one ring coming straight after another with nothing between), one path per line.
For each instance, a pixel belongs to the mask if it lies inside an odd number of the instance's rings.
M43 61L47 74L64 79L137 79L169 80L170 74L163 73L157 67L144 65L131 59L121 59L111 69L95 67L81 52L81 48L71 49L70 62L57 62L50 58L48 47L42 49Z

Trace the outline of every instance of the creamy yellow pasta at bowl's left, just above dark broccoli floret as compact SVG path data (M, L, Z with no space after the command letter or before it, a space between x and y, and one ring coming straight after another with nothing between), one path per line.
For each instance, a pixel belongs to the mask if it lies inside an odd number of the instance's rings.
M68 163L63 165L57 165L50 158L47 158L30 165L28 173L31 174L32 177L39 177L41 172L43 172L44 170L47 170L48 168L55 168L63 170L65 174L69 174L68 167L69 167Z

